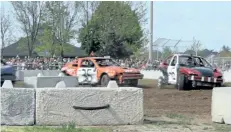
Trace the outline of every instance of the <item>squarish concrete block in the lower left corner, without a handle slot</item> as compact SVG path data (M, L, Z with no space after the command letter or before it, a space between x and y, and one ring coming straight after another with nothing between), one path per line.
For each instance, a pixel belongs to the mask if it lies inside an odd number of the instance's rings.
M35 90L1 88L1 124L34 125Z

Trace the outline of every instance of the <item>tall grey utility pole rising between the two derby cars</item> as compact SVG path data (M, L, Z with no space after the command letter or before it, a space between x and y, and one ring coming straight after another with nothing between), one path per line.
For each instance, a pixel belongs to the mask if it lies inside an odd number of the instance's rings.
M149 61L152 62L153 44L153 1L150 1L150 38L149 38ZM158 52L158 51L157 51Z

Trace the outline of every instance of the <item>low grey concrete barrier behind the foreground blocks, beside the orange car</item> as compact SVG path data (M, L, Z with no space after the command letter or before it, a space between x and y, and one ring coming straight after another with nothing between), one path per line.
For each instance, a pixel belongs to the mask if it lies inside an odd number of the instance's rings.
M57 83L64 81L66 87L77 87L78 79L72 76L41 76L41 77L25 77L24 82L27 87L44 88L55 87Z

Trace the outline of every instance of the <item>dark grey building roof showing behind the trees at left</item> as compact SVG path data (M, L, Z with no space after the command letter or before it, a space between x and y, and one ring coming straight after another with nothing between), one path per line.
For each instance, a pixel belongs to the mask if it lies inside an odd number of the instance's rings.
M11 57L16 57L16 56L19 56L19 57L28 56L29 55L28 49L26 47L22 48L22 46L20 45L21 42L22 41L20 39L18 42L3 48L1 50L1 56L4 58L11 58ZM63 53L64 57L72 58L76 56L86 55L85 52L80 47L76 47L71 44L65 44L64 47L69 49L69 50L64 50L64 53ZM39 52L39 53L33 52L32 57L46 56L46 55L47 55L46 52ZM60 54L56 54L55 56L56 57L60 56Z

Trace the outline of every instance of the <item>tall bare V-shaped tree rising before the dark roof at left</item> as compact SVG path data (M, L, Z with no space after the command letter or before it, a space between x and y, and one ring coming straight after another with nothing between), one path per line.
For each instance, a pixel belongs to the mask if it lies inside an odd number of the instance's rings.
M31 56L34 52L38 31L42 23L44 2L14 1L11 4L14 8L16 19L21 24L21 28L26 35L26 47L29 52L28 55Z

